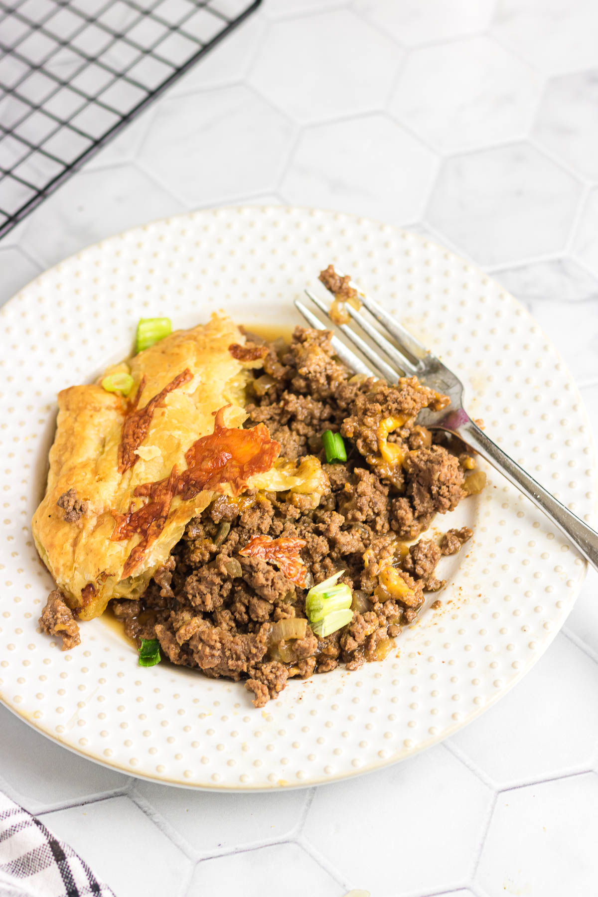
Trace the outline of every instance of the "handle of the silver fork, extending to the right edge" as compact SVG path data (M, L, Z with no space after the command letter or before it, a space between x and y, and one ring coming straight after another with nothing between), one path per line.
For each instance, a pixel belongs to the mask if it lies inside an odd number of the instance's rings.
M592 527L588 527L583 520L576 517L565 505L550 495L550 492L547 492L540 483L536 483L533 477L527 474L523 467L516 464L513 458L508 457L502 448L498 448L496 442L493 442L486 433L481 431L471 418L467 417L467 420L458 422L455 427L448 426L446 429L474 448L481 457L489 461L493 467L507 477L507 480L533 501L536 508L540 508L592 564L594 570L598 570L598 533Z

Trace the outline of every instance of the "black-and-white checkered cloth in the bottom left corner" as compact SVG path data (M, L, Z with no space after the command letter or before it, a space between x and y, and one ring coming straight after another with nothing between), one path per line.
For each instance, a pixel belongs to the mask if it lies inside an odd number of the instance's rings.
M74 849L0 791L0 897L114 897Z

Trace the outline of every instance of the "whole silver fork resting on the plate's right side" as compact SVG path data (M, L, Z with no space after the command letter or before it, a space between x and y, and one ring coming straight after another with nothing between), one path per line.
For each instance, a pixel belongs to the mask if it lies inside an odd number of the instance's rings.
M532 476L526 473L523 467L520 467L513 458L498 448L498 445L487 436L480 427L474 423L464 410L463 406L463 383L455 376L452 370L448 370L445 364L440 361L436 355L429 352L426 347L415 339L398 321L392 318L385 309L371 299L366 293L362 292L355 283L350 283L351 287L357 290L361 304L368 310L372 318L375 318L378 324L386 328L386 332L393 337L395 344L390 343L384 335L382 335L377 327L365 318L364 315L353 309L348 303L345 308L351 315L353 321L358 324L364 333L366 333L371 341L377 345L381 353L386 355L386 359L382 354L372 349L356 331L347 324L337 325L342 334L365 355L373 367L368 367L358 355L351 352L351 349L338 338L333 336L334 352L351 370L356 373L366 374L368 377L382 376L390 383L396 383L398 379L407 375L415 376L425 385L432 389L444 393L451 400L443 411L429 411L424 409L420 412L418 422L430 430L446 430L454 433L459 439L463 440L475 451L479 452L481 457L486 458L490 464L497 468L501 474L507 477L513 485L517 487L528 499L533 501L537 508L540 508L559 530L568 537L569 541L574 544L577 550L582 553L587 561L589 561L594 569L598 570L598 533L591 527L588 527L583 520L580 520L560 501L550 495L540 483L536 483ZM305 291L312 302L325 316L330 318L329 308L326 303L321 300L315 293L309 290ZM319 330L332 329L334 324L331 320L332 327L327 327L317 318L311 309L308 308L300 300L295 300L295 305L299 312L308 321L311 327Z

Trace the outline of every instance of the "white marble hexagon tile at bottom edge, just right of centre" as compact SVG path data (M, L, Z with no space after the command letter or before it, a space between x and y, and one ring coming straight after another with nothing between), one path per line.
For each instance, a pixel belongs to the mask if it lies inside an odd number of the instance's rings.
M376 813L374 793L384 803L381 818L375 822L370 817L370 824L364 824L362 807ZM392 770L319 788L304 839L352 886L374 894L392 894L398 884L398 893L434 893L467 880L492 800L492 789L438 745ZM338 813L339 806L347 810ZM392 856L397 839L401 852L411 858L409 864L399 869L392 862L377 862L375 858Z

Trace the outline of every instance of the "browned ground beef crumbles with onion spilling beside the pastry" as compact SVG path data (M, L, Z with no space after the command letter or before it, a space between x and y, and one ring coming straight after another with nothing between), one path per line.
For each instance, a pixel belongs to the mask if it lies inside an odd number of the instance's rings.
M464 447L449 450L415 422L443 396L415 378L389 386L353 376L325 331L297 327L290 344L262 341L254 351L256 344L247 351L262 367L248 388L246 426L264 422L287 462L315 456L325 475L320 491L216 497L187 525L143 596L110 606L130 639L157 639L172 663L212 678L243 679L263 707L289 679L385 658L401 628L417 619L424 591L444 585L435 576L441 554L458 551L472 531L449 530L439 545L429 538L405 544L466 494ZM346 463L326 463L325 430L342 434ZM65 518L84 513L71 492L58 502ZM256 536L301 540L305 588L275 563L240 553ZM353 618L318 639L306 619L306 594L338 570L353 592ZM60 634L64 648L79 641L59 592L48 598L40 625Z

